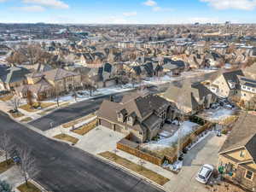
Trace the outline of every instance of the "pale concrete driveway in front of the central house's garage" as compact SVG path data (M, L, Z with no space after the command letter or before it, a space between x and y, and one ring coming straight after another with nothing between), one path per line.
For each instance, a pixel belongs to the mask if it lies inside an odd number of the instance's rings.
M90 154L99 154L105 151L113 151L116 148L116 143L124 137L124 134L100 125L80 138L76 147Z

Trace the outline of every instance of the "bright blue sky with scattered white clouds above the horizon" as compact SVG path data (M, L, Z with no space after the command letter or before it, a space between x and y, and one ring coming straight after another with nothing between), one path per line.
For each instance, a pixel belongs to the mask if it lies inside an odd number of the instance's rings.
M256 22L256 0L0 0L0 22Z

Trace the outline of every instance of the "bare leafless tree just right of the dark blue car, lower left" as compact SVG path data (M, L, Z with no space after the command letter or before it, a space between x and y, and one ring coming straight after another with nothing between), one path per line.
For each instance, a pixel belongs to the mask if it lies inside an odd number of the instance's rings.
M28 180L37 176L39 172L36 160L32 157L32 150L29 148L18 148L17 151L20 157L20 173L28 185Z

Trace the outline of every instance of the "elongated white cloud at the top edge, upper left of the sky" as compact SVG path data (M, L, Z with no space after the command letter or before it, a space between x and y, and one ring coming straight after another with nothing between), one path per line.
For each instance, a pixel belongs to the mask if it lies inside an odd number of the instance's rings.
M55 8L55 9L68 9L67 3L60 0L23 0L23 3L33 3L45 7Z

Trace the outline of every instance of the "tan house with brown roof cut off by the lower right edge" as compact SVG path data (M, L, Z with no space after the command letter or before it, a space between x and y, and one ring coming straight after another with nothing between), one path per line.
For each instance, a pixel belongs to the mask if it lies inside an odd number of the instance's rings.
M256 116L243 113L218 154L224 177L242 187L256 189Z

